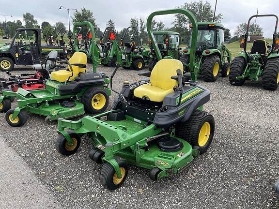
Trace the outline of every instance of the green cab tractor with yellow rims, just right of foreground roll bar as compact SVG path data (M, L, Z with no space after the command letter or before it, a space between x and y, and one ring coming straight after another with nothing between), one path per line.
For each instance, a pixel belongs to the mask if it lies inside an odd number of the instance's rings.
M232 56L230 50L224 44L224 26L216 22L200 22L198 27L195 49L195 67L198 69L198 74L201 74L203 80L207 82L216 81L219 73L222 77L227 77L230 73ZM182 51L180 57L186 71L189 66L191 38L192 32L188 48Z

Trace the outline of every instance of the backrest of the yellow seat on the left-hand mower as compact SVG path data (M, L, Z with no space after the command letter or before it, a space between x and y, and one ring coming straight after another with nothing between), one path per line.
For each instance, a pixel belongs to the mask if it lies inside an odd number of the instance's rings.
M86 66L87 64L86 54L83 52L75 52L73 56L70 58L69 62L70 64L78 63ZM69 71L71 71L70 66L68 66L67 68ZM86 71L86 68L79 67L79 66L72 65L72 68L73 68L74 78L78 76L79 73L85 73Z

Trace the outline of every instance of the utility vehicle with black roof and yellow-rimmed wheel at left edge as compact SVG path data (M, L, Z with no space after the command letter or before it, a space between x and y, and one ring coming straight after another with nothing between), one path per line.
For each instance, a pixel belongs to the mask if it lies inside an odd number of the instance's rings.
M0 71L12 71L15 64L39 64L41 58L45 59L52 50L58 51L59 56L62 58L67 55L65 46L42 46L41 29L16 29L16 34L11 44L0 48Z

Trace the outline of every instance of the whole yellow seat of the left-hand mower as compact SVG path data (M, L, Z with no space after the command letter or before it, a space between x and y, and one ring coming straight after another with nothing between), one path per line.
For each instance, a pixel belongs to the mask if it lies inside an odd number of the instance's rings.
M86 66L87 63L86 54L83 52L75 52L73 56L70 58L69 62L70 64L78 63ZM59 70L59 71L52 72L50 74L52 80L65 82L69 79L69 81L72 81L75 79L75 77L78 76L79 73L85 73L86 71L86 68L80 66L72 65L72 68L73 68L73 75L69 65L67 66L67 70Z

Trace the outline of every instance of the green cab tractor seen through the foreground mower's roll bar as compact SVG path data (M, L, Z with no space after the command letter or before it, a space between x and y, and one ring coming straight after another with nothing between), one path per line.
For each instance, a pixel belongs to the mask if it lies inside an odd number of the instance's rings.
M164 59L171 58L179 60L180 58L180 46L179 46L179 33L174 31L154 31L154 36L156 44L160 49L160 53ZM150 46L150 60L148 62L148 69L152 71L155 64L158 61L156 53L152 43L149 43Z

